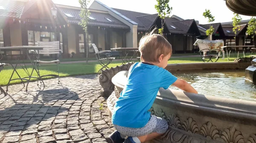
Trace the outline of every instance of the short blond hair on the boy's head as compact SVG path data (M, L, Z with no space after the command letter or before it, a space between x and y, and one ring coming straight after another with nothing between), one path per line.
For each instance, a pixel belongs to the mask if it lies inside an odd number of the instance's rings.
M160 34L154 34L154 30L140 40L139 50L141 58L147 62L159 62L158 58L172 54L172 45Z

